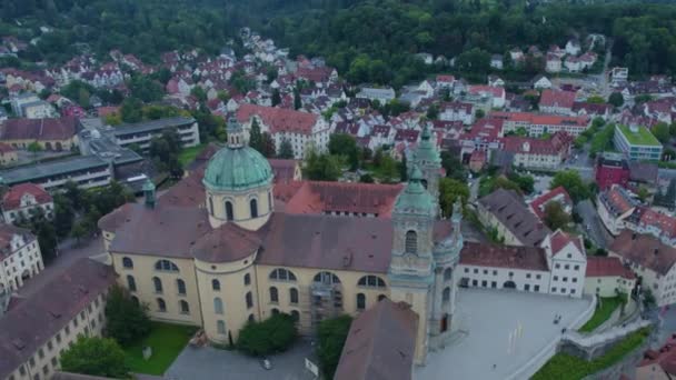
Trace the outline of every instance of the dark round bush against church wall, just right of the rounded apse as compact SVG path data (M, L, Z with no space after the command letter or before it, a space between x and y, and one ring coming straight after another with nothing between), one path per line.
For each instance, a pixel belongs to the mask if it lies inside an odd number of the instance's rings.
M287 313L272 314L261 322L249 322L239 330L237 348L250 356L266 356L286 351L298 332L294 317Z

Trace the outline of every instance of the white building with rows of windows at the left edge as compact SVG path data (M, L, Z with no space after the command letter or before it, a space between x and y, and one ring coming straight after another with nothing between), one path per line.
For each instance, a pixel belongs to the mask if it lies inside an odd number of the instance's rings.
M0 224L0 293L16 291L44 269L38 239L29 230Z

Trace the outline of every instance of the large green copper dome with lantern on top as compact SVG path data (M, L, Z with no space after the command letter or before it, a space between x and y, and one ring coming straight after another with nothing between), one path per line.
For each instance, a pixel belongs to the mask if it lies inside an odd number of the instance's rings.
M241 191L269 184L272 168L268 160L243 142L241 127L228 126L228 146L209 160L202 182L208 190Z

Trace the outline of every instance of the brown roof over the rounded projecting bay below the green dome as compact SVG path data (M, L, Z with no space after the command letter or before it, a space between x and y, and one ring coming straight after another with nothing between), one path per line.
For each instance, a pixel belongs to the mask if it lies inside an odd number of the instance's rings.
M206 262L231 262L250 256L260 243L258 233L226 223L200 237L191 256Z

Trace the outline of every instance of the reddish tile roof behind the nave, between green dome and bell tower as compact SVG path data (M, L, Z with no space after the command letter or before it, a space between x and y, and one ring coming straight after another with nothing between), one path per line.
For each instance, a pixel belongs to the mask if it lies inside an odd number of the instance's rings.
M287 213L349 212L390 217L402 184L304 181L286 201Z

